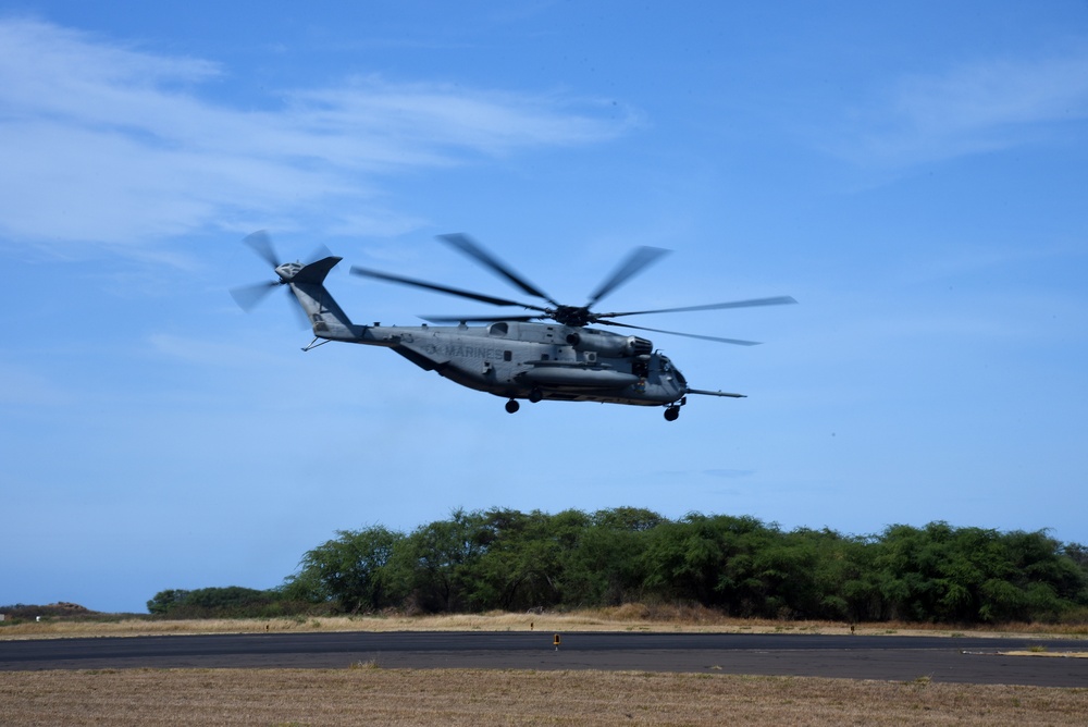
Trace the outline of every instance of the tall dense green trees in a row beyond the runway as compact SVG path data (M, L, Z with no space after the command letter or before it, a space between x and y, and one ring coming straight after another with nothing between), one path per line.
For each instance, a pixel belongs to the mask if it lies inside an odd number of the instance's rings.
M149 608L175 613L161 607L170 593ZM682 602L767 618L1059 620L1088 617L1088 549L944 522L852 537L629 507L457 510L410 533L339 531L271 596L347 613Z

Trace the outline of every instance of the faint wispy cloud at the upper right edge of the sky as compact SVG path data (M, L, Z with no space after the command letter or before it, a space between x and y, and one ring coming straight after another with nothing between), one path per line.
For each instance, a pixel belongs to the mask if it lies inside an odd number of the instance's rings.
M906 165L1054 137L1088 119L1088 51L977 61L901 78L857 110L839 151L860 162Z

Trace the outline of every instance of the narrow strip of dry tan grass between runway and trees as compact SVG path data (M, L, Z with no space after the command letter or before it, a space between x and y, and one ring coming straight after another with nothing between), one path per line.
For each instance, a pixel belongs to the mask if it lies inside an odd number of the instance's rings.
M964 629L925 624L860 624L858 634L929 636L1088 636L1088 626L1044 626L1014 624L1000 628ZM626 604L572 613L462 614L453 616L321 616L274 619L152 620L131 618L116 621L49 619L0 628L4 639L41 639L84 636L153 636L170 633L259 633L267 631L658 631L716 633L825 633L851 632L841 621L782 621L741 619L718 612L687 606Z

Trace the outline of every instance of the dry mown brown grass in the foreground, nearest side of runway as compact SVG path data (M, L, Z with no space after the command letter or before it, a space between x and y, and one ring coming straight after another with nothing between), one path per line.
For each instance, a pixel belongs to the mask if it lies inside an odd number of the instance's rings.
M1088 689L602 671L0 674L4 725L1083 725Z

